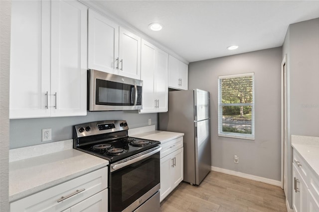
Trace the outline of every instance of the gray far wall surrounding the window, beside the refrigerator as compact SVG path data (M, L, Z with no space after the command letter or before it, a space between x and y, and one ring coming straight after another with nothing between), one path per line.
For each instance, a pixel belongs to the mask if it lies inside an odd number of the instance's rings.
M281 180L281 56L278 47L189 64L189 89L211 95L212 166ZM255 73L255 140L219 137L218 76L249 72Z

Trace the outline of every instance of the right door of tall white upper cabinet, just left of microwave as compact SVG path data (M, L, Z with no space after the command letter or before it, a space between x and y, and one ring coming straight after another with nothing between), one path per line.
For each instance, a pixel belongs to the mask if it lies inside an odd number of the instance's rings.
M51 116L86 115L87 8L51 1Z

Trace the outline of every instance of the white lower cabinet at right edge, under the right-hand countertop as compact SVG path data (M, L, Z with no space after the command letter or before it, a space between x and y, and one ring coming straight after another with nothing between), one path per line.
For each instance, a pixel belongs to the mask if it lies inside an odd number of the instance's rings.
M293 209L295 212L319 212L319 176L293 150Z

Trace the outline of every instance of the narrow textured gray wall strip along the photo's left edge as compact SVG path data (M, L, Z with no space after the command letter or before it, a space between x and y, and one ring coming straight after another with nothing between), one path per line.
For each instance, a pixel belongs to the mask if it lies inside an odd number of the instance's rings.
M0 1L0 211L9 211L9 70L11 1Z

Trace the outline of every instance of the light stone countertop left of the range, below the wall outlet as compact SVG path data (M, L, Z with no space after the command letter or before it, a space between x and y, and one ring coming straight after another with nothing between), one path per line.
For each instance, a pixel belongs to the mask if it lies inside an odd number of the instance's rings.
M65 145L65 141L63 141ZM56 146L59 146L59 142ZM52 148L52 143L32 146L34 151ZM77 178L99 168L105 167L109 162L105 159L81 152L72 148L72 140L66 142L68 148L35 157L22 157L24 159L9 162L9 202L16 201L28 195L56 186L60 183ZM55 144L53 144L55 145ZM31 148L32 149L32 148ZM27 151L27 152L25 152ZM32 155L30 147L12 149L12 154ZM11 154L11 150L9 152Z

